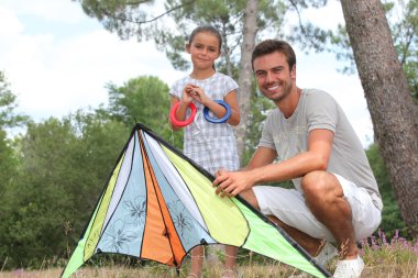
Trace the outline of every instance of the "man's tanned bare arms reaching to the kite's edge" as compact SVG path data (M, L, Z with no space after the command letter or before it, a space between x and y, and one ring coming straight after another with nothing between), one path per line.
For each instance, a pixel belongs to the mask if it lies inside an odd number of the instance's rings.
M332 143L333 132L314 130L308 136L308 151L285 162L265 164L267 159L261 157L264 151L256 152L244 171L218 171L213 181L213 185L218 186L216 192L221 193L221 197L227 194L232 197L251 189L256 184L284 181L302 177L310 171L326 170ZM268 155L268 152L266 154Z

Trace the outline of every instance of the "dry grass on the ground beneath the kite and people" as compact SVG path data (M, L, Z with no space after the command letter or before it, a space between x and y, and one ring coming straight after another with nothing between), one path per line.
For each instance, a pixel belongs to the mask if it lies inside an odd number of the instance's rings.
M217 254L219 255L219 254ZM381 231L376 237L370 237L361 243L361 256L365 263L362 277L364 278L418 278L418 241L408 242L399 237L397 233L391 241ZM218 263L205 264L204 277L217 278L222 273L222 256ZM297 269L278 262L244 253L239 258L239 269L245 278L279 278L297 274ZM337 258L327 266L332 273ZM96 264L96 265L95 265ZM62 268L44 267L37 270L16 269L13 271L0 271L0 278L58 278ZM147 263L144 266L132 267L132 262L114 264L111 260L96 258L88 266L81 267L72 278L184 278L189 269L189 259L179 269L170 268L156 263Z

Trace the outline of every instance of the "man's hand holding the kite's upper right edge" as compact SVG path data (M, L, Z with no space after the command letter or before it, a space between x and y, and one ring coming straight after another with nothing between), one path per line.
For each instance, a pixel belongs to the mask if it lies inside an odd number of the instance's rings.
M226 196L232 198L242 191L251 189L253 181L249 171L228 171L226 169L219 169L216 173L213 187L218 187L215 192L221 198Z

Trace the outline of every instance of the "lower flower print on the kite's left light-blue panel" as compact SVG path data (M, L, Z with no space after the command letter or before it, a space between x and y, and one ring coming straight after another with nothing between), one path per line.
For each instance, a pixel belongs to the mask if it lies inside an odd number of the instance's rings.
M138 235L127 229L127 223L119 219L105 232L105 245L116 253L129 254L129 246Z

